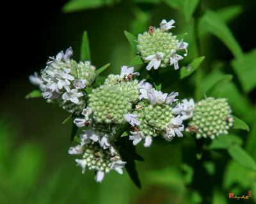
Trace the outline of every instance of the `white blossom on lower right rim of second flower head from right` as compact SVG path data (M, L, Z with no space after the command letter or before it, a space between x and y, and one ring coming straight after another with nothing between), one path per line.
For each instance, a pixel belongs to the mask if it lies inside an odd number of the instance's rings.
M175 134L179 137L183 136L180 131L184 131L184 125L182 124L180 115L171 120L171 123L168 124L165 131L166 133L164 134L164 138L166 138L166 140L172 140Z

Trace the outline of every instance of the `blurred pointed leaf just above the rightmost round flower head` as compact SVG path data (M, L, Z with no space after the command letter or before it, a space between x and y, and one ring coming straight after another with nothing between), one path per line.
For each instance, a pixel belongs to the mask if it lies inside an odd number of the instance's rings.
M221 78L217 78L216 81L210 86L205 87L204 92L207 96L218 96L218 93L225 87L225 84L232 80L232 75L224 75Z

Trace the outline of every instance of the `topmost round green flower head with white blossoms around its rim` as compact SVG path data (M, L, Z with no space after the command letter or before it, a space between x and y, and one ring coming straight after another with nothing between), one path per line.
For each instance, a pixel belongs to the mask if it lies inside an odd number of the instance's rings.
M177 36L168 32L172 29L175 23L174 20L166 22L162 20L160 28L150 26L150 30L138 35L138 52L145 62L149 62L147 69L165 68L166 66L174 65L174 69L179 69L178 61L183 59L179 55L180 50L186 50L186 57L188 55L188 43L178 40Z

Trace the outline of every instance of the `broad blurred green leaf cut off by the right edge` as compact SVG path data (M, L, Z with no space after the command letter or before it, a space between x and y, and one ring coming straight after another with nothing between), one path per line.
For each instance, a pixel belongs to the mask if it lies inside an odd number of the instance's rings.
M241 59L234 59L231 64L243 90L252 91L256 87L256 49L244 54Z

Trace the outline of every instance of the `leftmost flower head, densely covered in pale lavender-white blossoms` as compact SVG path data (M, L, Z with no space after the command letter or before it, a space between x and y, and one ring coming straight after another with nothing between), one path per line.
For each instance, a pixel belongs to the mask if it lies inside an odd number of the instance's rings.
M95 67L90 62L79 62L70 59L73 51L68 48L64 54L49 57L45 69L31 75L29 80L38 85L48 102L57 103L70 113L80 113L85 106L84 87L92 85L96 77Z

